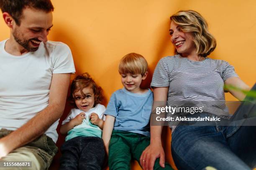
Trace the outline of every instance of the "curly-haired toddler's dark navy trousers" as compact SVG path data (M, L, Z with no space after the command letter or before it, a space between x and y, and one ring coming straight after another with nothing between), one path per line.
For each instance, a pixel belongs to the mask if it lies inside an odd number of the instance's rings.
M61 146L60 170L101 170L105 148L98 137L76 137Z

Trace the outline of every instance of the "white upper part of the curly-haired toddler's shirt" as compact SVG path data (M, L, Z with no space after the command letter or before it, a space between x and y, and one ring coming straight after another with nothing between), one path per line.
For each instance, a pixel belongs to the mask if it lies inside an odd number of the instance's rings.
M106 107L101 104L97 104L95 107L91 108L87 112L84 112L80 109L74 108L71 109L69 112L69 115L65 120L63 120L61 125L66 124L70 120L74 119L77 115L79 115L81 112L85 113L85 120L81 125L75 126L74 128L91 128L88 124L90 116L92 113L96 113L100 119L105 120L105 115L103 114L106 110Z

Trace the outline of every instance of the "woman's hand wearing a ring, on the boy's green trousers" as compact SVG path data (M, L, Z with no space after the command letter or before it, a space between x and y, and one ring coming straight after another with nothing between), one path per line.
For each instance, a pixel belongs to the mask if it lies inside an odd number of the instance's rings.
M153 170L157 158L160 158L159 164L164 168L165 157L161 143L150 144L141 154L140 163L143 170Z

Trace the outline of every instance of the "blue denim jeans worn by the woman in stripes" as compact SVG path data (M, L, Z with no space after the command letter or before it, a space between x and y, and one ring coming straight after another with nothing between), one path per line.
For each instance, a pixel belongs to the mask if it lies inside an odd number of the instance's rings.
M243 112L256 122L255 107L241 105L236 113ZM218 170L256 168L256 126L243 125L218 126L216 122L212 126L177 126L172 133L175 165L179 170L202 170L207 166Z

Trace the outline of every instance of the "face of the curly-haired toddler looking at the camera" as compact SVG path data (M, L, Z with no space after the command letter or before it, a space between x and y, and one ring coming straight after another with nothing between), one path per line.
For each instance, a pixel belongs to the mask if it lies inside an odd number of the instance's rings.
M87 112L94 105L94 92L91 87L84 87L82 91L85 96L79 90L74 92L74 100L80 110Z

